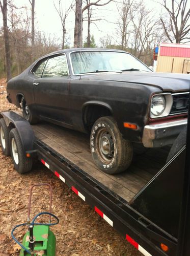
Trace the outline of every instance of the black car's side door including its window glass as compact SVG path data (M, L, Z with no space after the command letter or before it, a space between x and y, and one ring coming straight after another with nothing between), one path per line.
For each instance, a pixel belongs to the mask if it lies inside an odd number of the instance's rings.
M69 71L65 54L51 56L41 64L34 75L34 99L41 118L70 123L69 115ZM39 66L39 73L41 72Z

